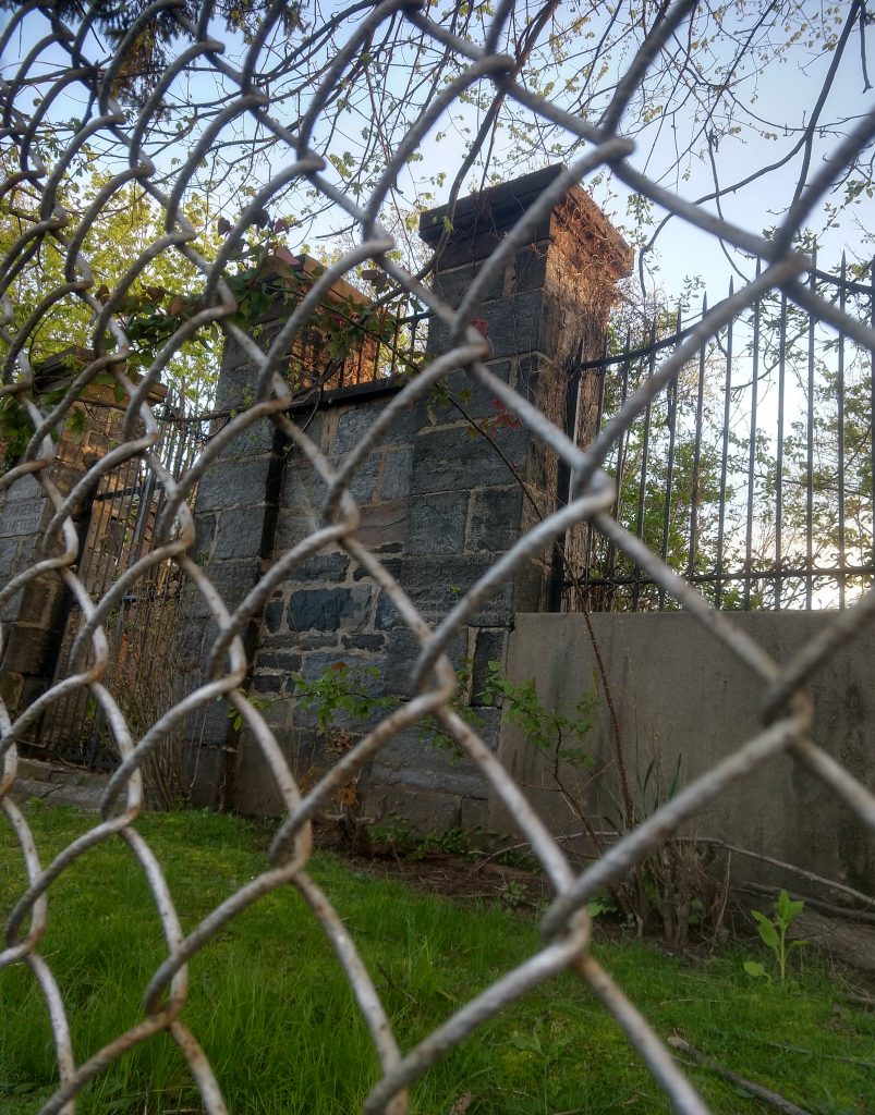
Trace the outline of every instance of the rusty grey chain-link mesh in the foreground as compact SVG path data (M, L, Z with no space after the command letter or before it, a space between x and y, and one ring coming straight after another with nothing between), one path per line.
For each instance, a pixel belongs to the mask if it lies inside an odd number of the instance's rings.
M8 16L0 37L6 59L6 78L0 80L0 152L4 174L0 197L4 204L23 191L29 198L16 207L17 233L6 245L0 264L0 339L4 348L0 403L16 404L29 417L26 444L18 458L0 478L0 491L15 493L17 485L37 485L54 514L45 530L29 568L17 571L0 591L0 607L16 593L33 585L48 574L60 576L75 600L78 627L61 648L61 665L55 683L28 707L12 717L0 701L0 755L3 768L0 805L21 850L27 885L15 909L7 912L0 969L27 964L35 986L45 999L51 1020L57 1056L58 1087L44 1108L73 1113L76 1096L85 1085L102 1074L133 1046L166 1032L179 1047L192 1080L211 1115L225 1111L206 1056L185 1022L189 995L188 961L241 911L259 902L280 886L291 884L300 892L312 915L321 924L337 961L355 993L358 1008L373 1037L381 1065L381 1080L365 1101L365 1111L394 1113L406 1111L406 1088L419 1079L436 1059L452 1049L487 1019L504 1009L528 989L548 980L557 971L571 969L600 999L606 1011L622 1026L632 1046L646 1063L679 1112L705 1111L675 1060L653 1032L646 1018L633 1007L609 973L589 956L590 925L587 900L605 884L622 878L631 866L658 845L666 835L693 818L715 796L738 779L751 777L773 756L787 754L821 779L825 789L837 795L859 823L875 828L875 801L872 794L824 754L808 736L811 710L801 686L812 670L853 639L875 610L872 592L838 615L810 646L800 648L795 660L773 661L749 637L733 627L724 613L714 611L689 581L673 571L661 556L625 531L614 517L615 491L603 466L623 445L640 415L672 389L679 374L701 347L742 308L772 291L785 292L811 320L830 324L852 337L856 343L875 349L871 322L852 318L844 306L819 298L800 277L810 261L790 249L794 234L811 207L828 190L838 169L868 143L875 130L875 117L860 120L854 132L837 144L831 162L825 162L800 194L777 234L763 239L754 232L723 220L681 197L635 169L628 162L634 143L623 135L623 117L629 98L645 72L686 18L693 4L677 3L629 61L625 77L616 87L613 100L598 124L565 112L544 99L519 80L517 60L498 52L510 3L499 6L493 23L482 42L460 37L433 22L421 6L411 0L385 0L373 6L355 25L355 30L310 90L306 112L290 123L292 107L271 94L271 54L266 49L269 36L280 18L282 3L265 6L252 30L241 69L224 57L224 45L214 33L212 3L198 7L182 0L158 0L122 28L121 38L108 56L102 56L99 3L88 6L52 4L30 0ZM196 11L195 11L196 8ZM176 38L172 57L152 76L147 95L133 107L119 106L115 91L119 81L134 80L128 72L132 51L150 33L152 21L161 17L175 21ZM318 29L316 29L318 31ZM314 31L314 35L316 35ZM390 153L387 163L367 196L345 192L327 177L326 159L315 149L316 137L326 108L340 96L344 84L368 43L382 33L421 37L441 54L449 52L453 71L435 88L427 108L413 120L403 140ZM19 42L32 42L19 65L11 59ZM310 40L307 40L310 41ZM398 39L401 41L401 39ZM296 48L297 49L297 48ZM302 50L304 48L301 48ZM189 149L173 137L156 139L162 126L164 99L174 83L191 79L192 96L206 89L213 79L221 94L204 100L198 139ZM477 83L489 84L496 94L544 123L568 129L589 145L587 153L561 173L535 201L506 240L482 261L477 278L458 310L451 309L420 278L408 273L390 253L395 237L381 225L381 213L404 163L415 155L426 134L444 109L468 94ZM204 91L204 98L208 93ZM83 119L62 142L51 142L52 122L66 112L66 98L75 97ZM196 115L196 112L195 112ZM193 127L194 117L191 125ZM182 127L182 126L181 126ZM258 138L257 138L258 137ZM199 164L225 143L265 143L272 149L271 165L285 165L265 183L259 183L246 202L240 216L228 222L225 239L208 260L199 246L198 230L185 213L185 203L194 190ZM65 186L70 168L88 149L104 153L107 173L94 201L84 212L75 212ZM172 152L173 157L169 157ZM184 156L184 157L181 157ZM574 438L555 426L528 399L509 387L487 367L489 346L472 319L480 293L500 273L512 254L525 245L530 230L560 202L569 188L587 174L609 166L631 188L662 206L675 217L690 222L725 244L751 252L766 265L752 281L744 283L730 299L703 313L692 329L679 332L676 349L654 368L637 389L624 397L616 413L606 420L597 437L581 448ZM315 193L326 204L342 210L359 235L360 243L343 252L324 270L294 312L282 324L270 330L248 328L238 314L239 302L231 282L229 265L244 237L262 220L265 206L292 183ZM125 261L127 270L112 289L104 284L99 252L89 233L102 215L116 203L125 204L125 191L135 185L148 204L162 215L163 230L135 255ZM11 225L10 225L11 227ZM90 245L90 246L88 246ZM89 252L95 258L89 258ZM209 253L208 253L209 254ZM47 261L55 260L52 270ZM155 261L171 261L196 277L196 293L190 298L190 312L174 331L164 337L154 359L135 376L128 357L135 348L128 336L125 300L141 275ZM405 294L445 327L450 349L410 378L402 390L386 404L360 443L345 459L327 459L308 434L306 407L292 407L296 399L285 378L289 352L308 343L308 329L337 280L362 263L369 263L398 285ZM22 316L13 304L12 292L28 269L38 268L39 282L31 290L30 308ZM80 355L75 376L61 380L61 389L46 391L40 367L31 362L33 345L54 307L64 302L78 306L90 319L93 350ZM416 322L422 320L422 310ZM363 320L367 318L365 313ZM413 319L411 319L413 321ZM356 323L360 328L362 322ZM406 327L405 327L406 328ZM411 330L415 322L410 324ZM680 328L680 327L679 327ZM212 420L199 419L191 411L174 415L163 409L158 385L171 361L185 358L185 346L199 330L212 329L229 345L234 345L253 368L251 397L219 414ZM396 370L402 334L393 341L391 371ZM412 349L411 349L412 351ZM410 363L410 360L407 360ZM535 437L556 455L570 476L569 498L565 506L520 537L464 593L442 622L430 626L405 594L404 588L381 558L358 537L360 515L350 494L356 475L367 455L381 444L416 399L460 369L472 384L489 389ZM340 376L340 372L337 371ZM106 387L106 384L109 386ZM74 411L89 385L104 384L123 413L121 444L94 459L73 486L61 489L52 478L58 463L54 437ZM336 380L343 384L342 379ZM317 395L318 384L309 385ZM157 392L157 394L156 394ZM312 399L312 396L306 395ZM173 421L180 425L173 426ZM327 486L323 522L315 522L309 535L286 553L277 554L258 583L233 603L223 599L198 562L192 560L195 527L190 506L200 478L217 463L223 449L235 439L249 436L259 423L270 423L306 457L314 474ZM188 423L188 425L186 425ZM195 429L196 427L196 429ZM175 434L171 433L175 429ZM195 430L186 440L179 432ZM184 446L194 446L192 452ZM102 582L85 578L83 527L78 518L83 503L97 493L105 501L122 500L121 488L113 487L110 475L131 469L131 484L151 485L156 493L157 512L152 534L146 537L133 505L127 507L136 520L136 545L128 545L126 564L112 571ZM127 474L125 474L127 475ZM121 487L124 487L122 485ZM133 510L132 510L133 508ZM446 657L453 637L470 615L498 591L513 572L542 553L559 535L577 522L587 521L600 532L616 552L622 552L648 582L656 585L661 601L674 599L703 626L709 637L722 643L746 663L768 687L762 710L762 727L753 738L741 743L723 762L688 785L666 802L646 822L627 833L599 861L577 876L559 844L551 837L521 789L509 777L499 759L452 708L455 676ZM355 747L344 755L311 788L304 789L292 774L280 740L258 708L240 690L250 665L244 632L252 617L259 614L270 594L280 586L309 555L325 546L344 547L373 581L391 598L397 614L419 644L419 659L411 665L415 696L387 715ZM212 621L213 642L200 685L185 692L167 695L161 716L147 725L128 724L123 710L104 685L110 631L107 627L125 600L136 597L147 601L157 592L160 578L175 578L186 591L200 598L203 612ZM98 584L95 589L95 584ZM145 607L145 604L138 604ZM8 624L0 629L3 646ZM185 934L167 886L164 867L136 828L143 808L143 767L161 743L186 717L208 709L217 698L225 698L260 749L270 769L286 815L278 826L265 870L240 886L223 903L210 911ZM19 763L19 747L28 731L50 710L73 708L88 702L100 718L114 747L114 769L104 801L103 816L84 835L47 862L40 854L26 815L12 801ZM458 746L473 762L493 792L512 812L519 828L540 861L554 890L555 899L542 921L544 944L518 967L506 972L477 998L455 1010L446 1021L411 1050L402 1050L393 1035L390 1019L362 957L354 934L331 906L328 895L308 874L312 849L310 825L317 811L339 788L356 776L397 734L424 717L433 715ZM152 895L166 948L166 956L147 988L144 988L144 1016L128 1030L117 1034L86 1061L76 1059L62 993L50 963L40 952L40 940L52 915L52 886L80 856L95 845L124 842L143 873ZM144 917L129 910L132 919ZM222 1009L233 1010L233 1004ZM17 1025L25 1025L23 1020Z

